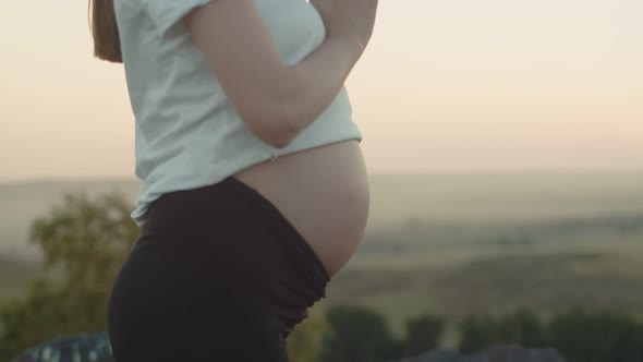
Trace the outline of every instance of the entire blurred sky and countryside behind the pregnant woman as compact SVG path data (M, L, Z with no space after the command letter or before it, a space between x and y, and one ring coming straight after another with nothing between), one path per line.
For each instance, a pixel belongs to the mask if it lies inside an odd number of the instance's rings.
M0 13L3 361L105 329L139 180L123 68L92 57L86 3ZM643 360L642 13L639 0L380 1L347 82L368 227L293 360L343 361L341 342L364 361L509 342Z

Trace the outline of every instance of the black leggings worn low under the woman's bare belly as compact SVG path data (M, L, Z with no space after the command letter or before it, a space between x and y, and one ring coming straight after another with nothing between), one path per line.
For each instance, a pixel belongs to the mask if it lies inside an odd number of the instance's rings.
M288 361L328 273L279 209L233 177L161 195L109 300L117 362Z

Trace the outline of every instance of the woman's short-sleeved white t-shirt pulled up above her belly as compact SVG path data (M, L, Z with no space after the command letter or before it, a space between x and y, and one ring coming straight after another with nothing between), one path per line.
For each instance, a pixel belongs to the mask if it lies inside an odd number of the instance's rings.
M143 180L132 219L143 226L149 204L171 191L215 184L281 155L344 140L362 142L345 87L284 148L255 136L194 45L181 19L216 0L116 0L125 77L135 117L136 176ZM326 37L305 0L256 0L287 65Z

